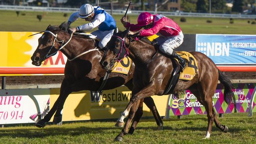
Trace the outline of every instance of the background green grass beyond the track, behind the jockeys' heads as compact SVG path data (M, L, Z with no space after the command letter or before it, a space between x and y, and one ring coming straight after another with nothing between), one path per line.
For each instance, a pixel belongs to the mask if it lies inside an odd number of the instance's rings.
M23 16L22 13L25 15ZM20 12L17 17L15 11L0 11L0 31L43 31L49 24L59 25L67 21L70 14L68 13L68 17L63 17L63 13ZM43 15L41 22L36 18L37 15ZM124 30L120 22L122 15L113 15L113 17L117 21L118 28ZM129 17L130 22L137 21L137 16ZM180 17L171 18L180 24L183 33L256 34L256 24L247 23L248 20L256 21L252 19L234 19L234 24L230 24L229 18L210 18L212 23L206 22L208 18L186 17L186 22L180 22ZM84 23L84 20L79 19L71 26L75 27Z

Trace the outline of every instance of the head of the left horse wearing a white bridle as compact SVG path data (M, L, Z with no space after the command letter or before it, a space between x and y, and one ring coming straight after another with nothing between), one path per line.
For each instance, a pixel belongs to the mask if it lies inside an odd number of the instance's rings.
M59 32L68 30L69 25L66 22L63 22L59 26L49 25L45 31L40 32L44 33L38 39L37 49L31 57L32 65L40 66L45 59L56 54L64 42L63 37L61 37Z

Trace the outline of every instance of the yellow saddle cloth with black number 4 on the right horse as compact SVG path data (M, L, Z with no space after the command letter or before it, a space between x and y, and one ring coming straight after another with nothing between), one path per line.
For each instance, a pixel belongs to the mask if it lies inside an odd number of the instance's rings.
M189 52L180 51L176 52L180 57L185 59L186 61L186 67L184 68L183 72L180 73L180 78L183 80L191 80L195 76L198 76L198 66L197 66L197 60L195 57L190 54ZM178 61L178 60L177 60Z

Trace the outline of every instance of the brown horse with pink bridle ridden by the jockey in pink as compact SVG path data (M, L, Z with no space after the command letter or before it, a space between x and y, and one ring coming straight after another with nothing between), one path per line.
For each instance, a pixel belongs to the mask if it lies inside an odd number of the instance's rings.
M104 69L109 70L110 63L113 63L117 59L122 59L122 56L129 53L129 57L135 63L132 98L119 120L123 120L128 113L129 116L121 133L115 138L115 140L119 141L127 133L138 105L142 104L139 100L152 95L163 95L167 83L171 78L171 72L173 71L171 59L160 54L157 54L152 59L152 55L156 54L154 46L144 41L132 41L133 38L131 35L128 35L128 32L129 29L121 33L115 33L112 36L108 43L109 50L106 51L105 57L100 62ZM224 100L230 103L234 95L232 83L206 55L200 52L191 52L191 54L198 62L198 77L191 81L179 79L171 93L177 94L189 89L197 97L198 101L204 105L208 117L208 128L205 138L210 138L213 122L215 122L215 125L221 131L226 133L228 132L228 127L221 125L217 119L212 105L212 96L215 93L219 79L225 88Z

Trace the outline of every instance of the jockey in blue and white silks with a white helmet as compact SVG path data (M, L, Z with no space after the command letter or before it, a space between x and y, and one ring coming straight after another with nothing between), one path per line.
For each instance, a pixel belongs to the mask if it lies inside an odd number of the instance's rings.
M78 26L76 28L71 28L73 32L75 31L85 31L92 30L98 27L98 30L92 32L92 35L97 36L96 38L100 40L98 47L104 48L110 41L111 36L115 28L117 27L115 19L109 15L104 9L98 6L91 6L90 4L84 4L80 7L80 10L72 13L69 17L68 23L71 24L78 18L83 18L85 21L90 23Z

